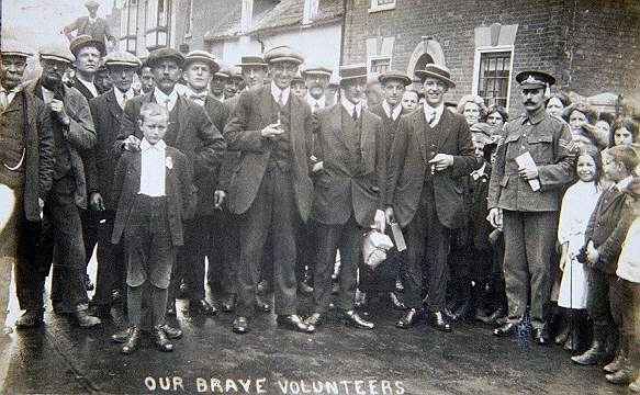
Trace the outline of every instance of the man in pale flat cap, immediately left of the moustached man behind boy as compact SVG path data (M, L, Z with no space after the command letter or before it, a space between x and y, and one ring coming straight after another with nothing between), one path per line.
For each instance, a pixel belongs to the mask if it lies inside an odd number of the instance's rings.
M97 316L108 316L113 302L112 292L124 295L124 259L122 246L111 244L116 203L113 200L113 172L117 165L113 144L120 133L125 103L133 99L133 78L141 66L138 58L127 52L113 52L104 58L109 78L114 86L106 93L89 101L98 142L87 153L87 189L89 210L98 223L98 273L96 294L91 301ZM91 253L90 251L88 253Z

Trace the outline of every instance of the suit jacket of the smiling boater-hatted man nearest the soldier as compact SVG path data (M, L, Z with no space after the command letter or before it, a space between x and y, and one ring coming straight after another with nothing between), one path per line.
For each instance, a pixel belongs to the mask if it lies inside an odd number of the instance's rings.
M474 156L469 126L462 115L445 110L436 129L438 135L427 146L425 131L435 132L427 124L424 111L414 111L400 120L389 161L386 202L403 227L418 208L425 176L430 171L428 160L436 154L453 156L451 167L431 176L438 219L451 229L464 224L460 178L479 168L481 161Z

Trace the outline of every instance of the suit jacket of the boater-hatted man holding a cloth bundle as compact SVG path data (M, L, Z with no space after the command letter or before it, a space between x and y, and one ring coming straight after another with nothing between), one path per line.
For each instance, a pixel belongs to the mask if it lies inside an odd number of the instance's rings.
M352 212L360 226L369 227L375 210L384 210L386 154L382 121L362 111L360 153L352 153L349 136L343 131L340 103L316 111L313 117L315 156L324 169L315 182L311 217L325 225L343 225ZM356 166L353 158L360 159Z

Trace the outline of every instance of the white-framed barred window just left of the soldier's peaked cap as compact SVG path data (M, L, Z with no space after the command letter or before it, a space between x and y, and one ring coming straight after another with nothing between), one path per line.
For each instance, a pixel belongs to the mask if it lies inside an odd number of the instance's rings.
M508 109L513 48L479 48L475 55L474 92L486 105L499 104Z

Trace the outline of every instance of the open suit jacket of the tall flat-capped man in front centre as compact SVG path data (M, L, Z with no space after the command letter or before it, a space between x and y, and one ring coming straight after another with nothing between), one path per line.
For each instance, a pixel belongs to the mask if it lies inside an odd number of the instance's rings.
M300 216L306 222L313 193L308 177L312 150L311 109L294 94L290 94L289 100L292 101L290 137L293 189ZM249 210L267 170L271 145L260 132L271 123L272 101L270 84L244 91L224 128L229 149L240 151L240 162L231 177L228 188L228 207L234 214L243 214Z

